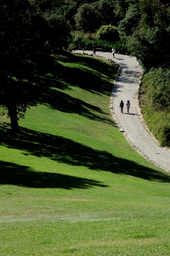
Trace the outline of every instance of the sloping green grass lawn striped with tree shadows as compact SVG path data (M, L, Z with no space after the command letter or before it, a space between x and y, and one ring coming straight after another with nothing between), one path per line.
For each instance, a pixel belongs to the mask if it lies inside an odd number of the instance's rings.
M170 176L112 121L118 68L63 52L13 135L0 119L0 255L170 255Z

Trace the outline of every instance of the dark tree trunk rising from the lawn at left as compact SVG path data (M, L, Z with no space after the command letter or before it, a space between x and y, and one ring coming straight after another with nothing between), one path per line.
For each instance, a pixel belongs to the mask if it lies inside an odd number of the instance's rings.
M16 113L16 102L11 101L7 104L7 109L10 116L11 121L11 129L14 132L19 131L19 125L18 125L18 119L17 119L17 113Z

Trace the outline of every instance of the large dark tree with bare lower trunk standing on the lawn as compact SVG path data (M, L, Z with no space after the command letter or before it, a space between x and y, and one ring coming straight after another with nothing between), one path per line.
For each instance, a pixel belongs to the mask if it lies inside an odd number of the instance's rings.
M1 0L0 104L7 110L14 131L26 109L36 106L35 95L41 85L35 60L46 52L43 23L28 0Z

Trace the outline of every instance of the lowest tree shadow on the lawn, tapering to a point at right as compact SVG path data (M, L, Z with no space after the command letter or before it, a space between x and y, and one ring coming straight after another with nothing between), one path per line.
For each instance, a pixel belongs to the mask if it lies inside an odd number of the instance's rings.
M89 189L108 187L103 182L52 172L36 172L29 166L0 161L0 184L33 188Z

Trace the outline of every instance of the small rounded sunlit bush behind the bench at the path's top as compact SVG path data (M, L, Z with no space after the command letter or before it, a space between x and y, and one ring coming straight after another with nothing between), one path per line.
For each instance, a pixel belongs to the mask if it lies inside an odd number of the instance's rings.
M97 31L97 38L101 40L107 40L109 42L113 42L119 39L119 33L116 27L111 25L106 25L106 26L102 26Z

